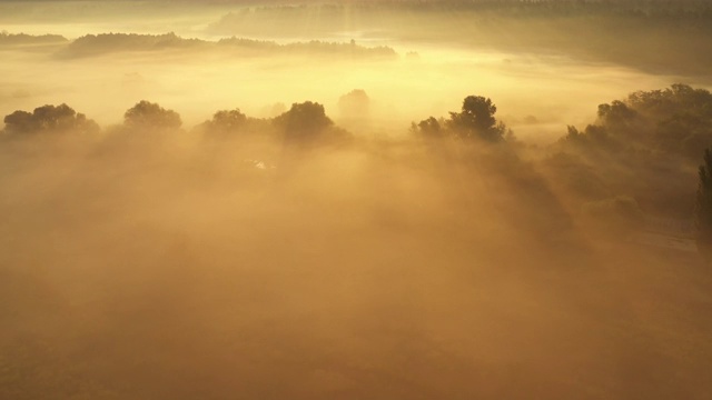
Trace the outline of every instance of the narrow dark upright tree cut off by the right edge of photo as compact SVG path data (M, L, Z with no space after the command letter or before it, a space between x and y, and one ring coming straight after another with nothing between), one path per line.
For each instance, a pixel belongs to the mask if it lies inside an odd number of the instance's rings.
M698 199L695 204L695 228L698 249L706 258L712 258L712 151L704 150L704 164L700 166Z

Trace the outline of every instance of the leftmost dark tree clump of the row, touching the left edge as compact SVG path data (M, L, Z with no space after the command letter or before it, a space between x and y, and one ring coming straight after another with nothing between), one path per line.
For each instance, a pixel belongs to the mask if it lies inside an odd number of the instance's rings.
M96 133L99 126L67 104L42 106L32 112L14 111L4 117L4 131L9 134L36 132Z

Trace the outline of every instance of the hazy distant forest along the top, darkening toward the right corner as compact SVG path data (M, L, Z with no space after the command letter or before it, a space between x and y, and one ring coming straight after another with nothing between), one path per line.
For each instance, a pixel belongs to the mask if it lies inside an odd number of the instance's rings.
M344 27L344 21L350 22ZM383 24L383 21L389 21ZM289 23L287 23L289 22ZM656 73L706 76L709 1L404 1L264 6L225 14L210 34L360 31L408 42L508 52L563 53ZM267 33L266 33L267 32Z

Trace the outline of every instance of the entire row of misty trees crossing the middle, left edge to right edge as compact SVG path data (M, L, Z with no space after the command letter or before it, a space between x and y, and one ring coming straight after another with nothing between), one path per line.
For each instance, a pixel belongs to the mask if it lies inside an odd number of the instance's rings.
M356 94L360 94L358 99L367 98L362 91L344 98ZM348 102L342 101L340 106ZM708 90L673 84L663 90L631 93L626 99L599 106L593 123L584 129L570 126L560 140L547 147L517 140L496 119L496 111L491 99L469 96L459 110L447 117L413 122L406 142L425 154L438 154L456 163L479 163L493 174L512 174L512 181L521 183L513 183L512 189L523 190L522 184L527 186L534 193L532 199L548 193L544 198L550 200L542 203L557 198L556 201L565 203L564 209L578 210L595 221L606 220L601 214L617 216L615 220L620 223L611 226L641 223L643 211L691 218L694 171L703 149L712 147L712 94ZM297 148L390 146L339 128L324 106L312 101L294 103L275 118L253 118L239 109L220 110L189 130L182 129L176 111L149 101L135 104L123 114L122 123L103 130L67 104L43 106L32 112L16 111L4 117L0 137L4 141L61 133L101 138L102 132L113 138L157 134L170 138L175 132L186 132L216 143L258 140ZM482 161L483 157L487 161Z

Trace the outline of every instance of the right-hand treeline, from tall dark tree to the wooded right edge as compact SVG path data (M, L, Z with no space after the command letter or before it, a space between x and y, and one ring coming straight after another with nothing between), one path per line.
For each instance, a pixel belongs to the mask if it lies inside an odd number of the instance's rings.
M502 143L532 160L568 207L595 223L642 223L643 211L690 219L702 152L712 147L712 93L686 84L639 91L599 106L595 122L570 126L555 143L527 146L495 118L490 99L468 97L447 118L413 122L428 146ZM556 189L557 188L557 189ZM605 222L602 214L616 216Z

